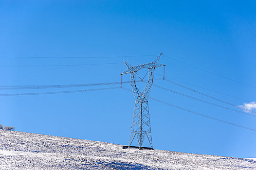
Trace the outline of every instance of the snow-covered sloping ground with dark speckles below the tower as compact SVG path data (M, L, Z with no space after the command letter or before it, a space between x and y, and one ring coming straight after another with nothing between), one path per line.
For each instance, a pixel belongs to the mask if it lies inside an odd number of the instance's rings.
M256 170L256 160L0 130L0 170Z

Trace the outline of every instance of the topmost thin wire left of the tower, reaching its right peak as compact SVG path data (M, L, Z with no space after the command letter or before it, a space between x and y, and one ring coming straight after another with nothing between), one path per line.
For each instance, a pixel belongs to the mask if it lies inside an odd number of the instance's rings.
M0 56L0 58L121 58L121 57L149 57L149 56L157 56L157 55L125 55L125 56L107 56L107 57L50 57L50 56L43 56L43 57L18 57L18 56Z

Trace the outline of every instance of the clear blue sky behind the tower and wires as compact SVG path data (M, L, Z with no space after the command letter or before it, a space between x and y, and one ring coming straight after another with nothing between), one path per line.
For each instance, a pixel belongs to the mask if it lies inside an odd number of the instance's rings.
M255 1L0 0L0 85L116 82L125 64L2 67L153 61L160 53L256 86ZM155 55L116 58L58 58ZM20 58L6 58L20 57ZM22 58L56 57L56 58ZM186 66L165 56L165 74L180 81L256 101L256 88ZM156 73L162 74L158 68ZM156 75L156 78L159 78ZM123 77L129 80L129 75ZM209 100L166 81L156 85ZM184 84L186 85L186 84ZM124 85L131 88L130 85ZM245 100L201 88L236 105ZM102 87L102 86L100 86ZM1 90L0 94L98 87ZM157 87L151 97L256 129L256 118L194 101ZM113 89L86 93L1 96L0 124L17 131L128 144L133 94ZM230 107L230 106L228 106ZM149 100L153 147L185 153L256 157L256 132Z

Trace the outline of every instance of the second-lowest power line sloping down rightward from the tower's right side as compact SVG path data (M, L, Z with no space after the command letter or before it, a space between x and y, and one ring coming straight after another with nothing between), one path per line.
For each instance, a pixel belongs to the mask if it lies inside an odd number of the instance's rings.
M188 95L185 95L185 94L183 94L183 93L179 93L179 92L176 92L176 91L174 91L174 90L171 90L171 89L168 89L168 88L159 86L159 85L154 85L154 86L156 86L156 87L158 87L158 88L161 88L161 89L164 89L164 90L166 90L166 91L169 91L169 92L172 92L172 93L175 93L175 94L178 94L178 95L181 95L181 96L184 96L184 97L187 97L187 98L196 100L196 101L204 102L204 103L211 104L211 105L214 105L214 106L223 108L223 109L227 109L227 110L231 110L231 111L238 112L238 113L241 113L241 114L245 114L245 115L249 115L249 116L256 117L256 115L254 115L254 114L246 113L246 112L239 111L239 110L232 109L232 108L228 108L228 107L225 107L225 106L222 106L222 105L219 105L219 104L215 104L215 103L213 103L213 102L208 102L208 101L204 101L204 100L201 100L201 99L198 99L198 98L194 98L194 97L192 97L192 96L188 96Z

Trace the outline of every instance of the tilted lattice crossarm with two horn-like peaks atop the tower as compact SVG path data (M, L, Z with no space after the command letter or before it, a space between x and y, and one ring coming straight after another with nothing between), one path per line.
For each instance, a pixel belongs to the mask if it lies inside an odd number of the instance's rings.
M123 74L128 74L131 72L137 72L137 71L141 70L142 68L150 69L150 68L159 68L159 67L165 66L163 64L158 64L158 60L160 59L162 54L163 53L161 52L152 63L146 63L146 64L137 65L137 66L130 66L126 61L124 61L124 63L126 64L128 69L123 71L120 74L123 75Z

